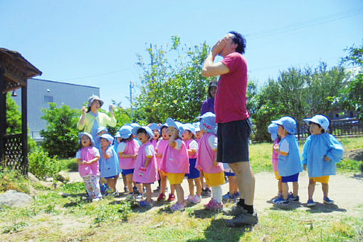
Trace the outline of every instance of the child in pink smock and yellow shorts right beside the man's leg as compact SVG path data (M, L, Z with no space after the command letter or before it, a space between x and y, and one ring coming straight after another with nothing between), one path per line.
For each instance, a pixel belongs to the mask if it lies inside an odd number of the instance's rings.
M207 210L221 211L222 186L224 179L223 164L216 161L218 138L216 137L216 115L206 112L201 116L201 142L199 143L198 158L196 159L196 169L204 172L206 184L211 186L212 198L204 207Z

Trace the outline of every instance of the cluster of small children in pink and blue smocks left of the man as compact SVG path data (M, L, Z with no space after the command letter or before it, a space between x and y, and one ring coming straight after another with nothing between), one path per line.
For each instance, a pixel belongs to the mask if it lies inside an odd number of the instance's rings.
M100 184L103 183L107 184L109 193L116 194L116 182L121 173L125 178L125 192L130 193L127 198L140 200L145 191L146 199L139 201L140 206L153 205L151 184L159 181L158 201L173 201L176 191L177 202L172 205L172 211L183 210L186 204L200 203L202 192L208 194L209 188L212 198L205 208L221 210L222 199L236 199L239 193L236 182L232 182L231 192L222 196L225 172L223 164L216 162L215 118L212 112L206 112L194 124L182 124L170 117L163 125L126 124L117 132L115 140L105 127L99 127L96 142L90 134L81 132L81 147L76 158L90 199L102 198ZM231 171L226 175L233 180ZM189 184L186 199L181 186L184 177ZM168 198L165 196L167 180L170 184Z

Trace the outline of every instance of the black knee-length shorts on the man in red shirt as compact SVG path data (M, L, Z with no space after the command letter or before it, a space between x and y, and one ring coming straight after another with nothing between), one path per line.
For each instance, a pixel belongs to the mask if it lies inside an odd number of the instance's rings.
M218 124L217 162L249 162L248 137L250 134L249 119Z

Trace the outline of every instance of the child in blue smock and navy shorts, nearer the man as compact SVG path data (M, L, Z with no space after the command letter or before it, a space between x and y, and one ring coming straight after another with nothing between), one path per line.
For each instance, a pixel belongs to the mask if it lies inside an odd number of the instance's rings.
M295 134L297 123L293 117L281 117L280 120L274 120L273 123L278 125L278 135L281 140L278 152L278 174L281 177L283 197L273 200L273 204L286 205L290 201L299 201L299 173L302 172L300 151L298 140ZM288 194L288 182L293 182L293 194Z

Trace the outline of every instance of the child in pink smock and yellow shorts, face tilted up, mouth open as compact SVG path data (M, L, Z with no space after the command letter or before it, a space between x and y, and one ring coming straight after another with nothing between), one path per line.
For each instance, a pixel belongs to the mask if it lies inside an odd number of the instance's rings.
M174 122L172 118L167 118L169 144L162 157L160 170L168 177L170 185L177 191L178 201L171 207L172 211L184 210L184 190L181 186L184 175L189 173L189 157L186 145L180 139L179 128L181 122Z

